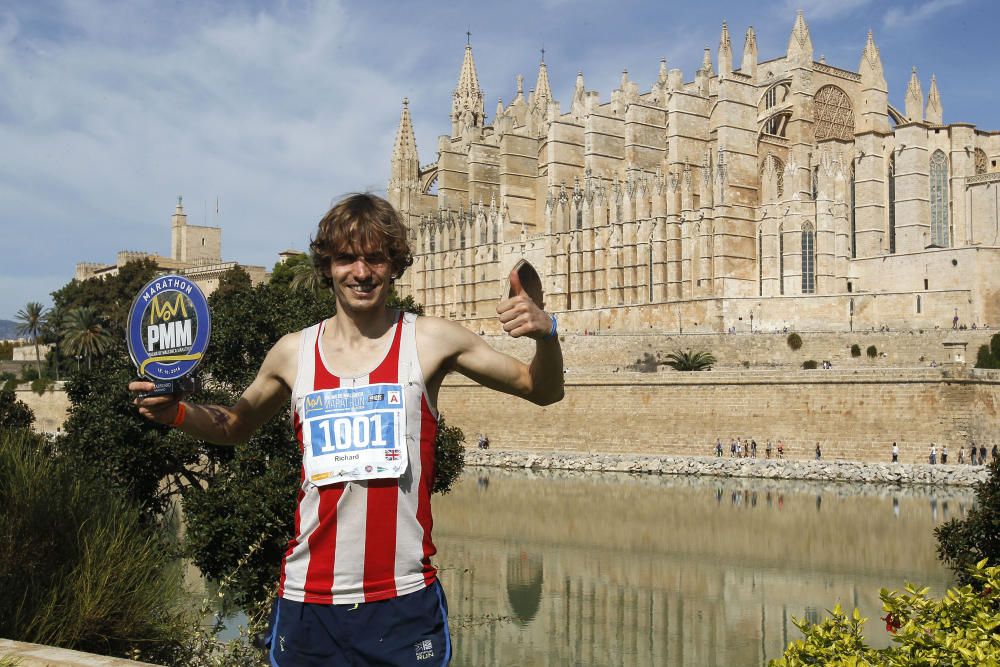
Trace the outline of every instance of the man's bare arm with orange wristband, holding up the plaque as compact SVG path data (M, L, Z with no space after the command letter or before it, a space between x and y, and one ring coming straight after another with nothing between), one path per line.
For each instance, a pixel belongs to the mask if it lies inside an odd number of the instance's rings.
M297 333L288 334L271 348L257 377L235 405L199 405L182 401L177 396L152 396L135 399L139 414L215 444L245 442L291 396L298 365L298 337ZM137 381L128 387L129 391L142 392L149 391L152 384Z

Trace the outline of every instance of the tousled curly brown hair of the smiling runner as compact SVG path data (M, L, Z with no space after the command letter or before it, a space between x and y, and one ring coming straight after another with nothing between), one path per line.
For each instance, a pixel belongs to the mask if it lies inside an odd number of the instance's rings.
M393 280L413 264L402 216L392 204L370 192L350 194L334 204L319 221L309 249L313 268L328 288L333 287L330 261L337 253L384 254Z

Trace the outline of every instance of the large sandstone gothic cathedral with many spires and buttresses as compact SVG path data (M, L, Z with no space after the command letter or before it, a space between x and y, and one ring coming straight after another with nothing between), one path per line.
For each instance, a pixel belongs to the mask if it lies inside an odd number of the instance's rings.
M945 123L914 70L890 102L869 32L856 70L815 60L797 16L784 55L728 28L694 80L661 61L610 99L544 61L487 123L472 47L450 133L421 165L408 103L390 201L430 314L496 331L527 263L571 331L857 330L1000 325L1000 132Z

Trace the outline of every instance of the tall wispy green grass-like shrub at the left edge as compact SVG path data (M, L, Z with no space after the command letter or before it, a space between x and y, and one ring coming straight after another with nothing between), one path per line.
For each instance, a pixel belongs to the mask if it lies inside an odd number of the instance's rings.
M4 431L0 506L0 636L156 662L181 650L175 552L120 494Z

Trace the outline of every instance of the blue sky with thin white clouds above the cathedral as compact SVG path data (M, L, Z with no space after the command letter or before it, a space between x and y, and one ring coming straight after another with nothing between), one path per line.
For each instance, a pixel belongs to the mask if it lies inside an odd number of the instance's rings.
M856 71L872 30L897 108L915 66L946 123L1000 129L994 0L0 0L0 319L77 262L168 256L178 196L224 260L306 249L339 196L384 192L404 97L436 159L467 32L490 122L542 48L566 110L578 70L601 101L622 69L648 91L661 58L692 79L724 20L736 66L748 25L779 57L796 9L831 65Z

